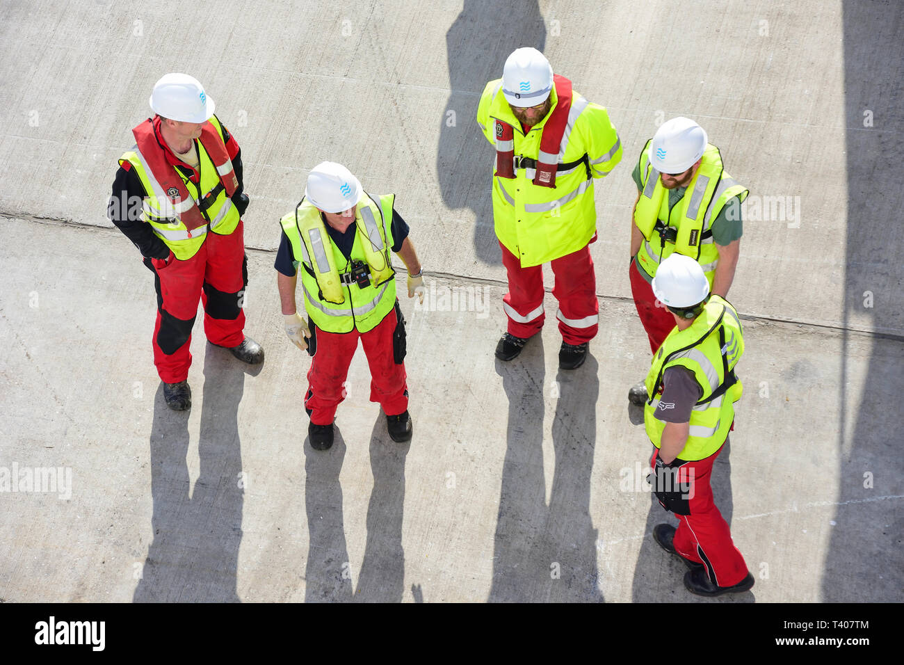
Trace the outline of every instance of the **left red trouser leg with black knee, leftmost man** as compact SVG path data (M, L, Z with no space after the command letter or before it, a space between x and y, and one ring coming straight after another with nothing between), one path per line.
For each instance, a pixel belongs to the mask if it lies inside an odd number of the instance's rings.
M200 255L200 257L199 257ZM154 365L160 380L176 384L188 378L192 366L192 328L204 275L203 245L191 259L154 269L157 317L154 325Z

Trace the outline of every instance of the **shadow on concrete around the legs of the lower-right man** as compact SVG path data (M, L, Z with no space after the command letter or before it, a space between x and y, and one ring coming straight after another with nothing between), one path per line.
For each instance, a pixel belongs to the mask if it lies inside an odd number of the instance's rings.
M653 445L642 428L639 437L645 443L638 451L641 455L640 468L644 474L650 468L650 458L653 457ZM632 472L636 469L632 467ZM649 495L650 511L646 517L646 525L644 528L644 540L641 543L640 551L637 553L637 563L635 565L634 584L632 586L631 600L635 603L696 603L696 602L719 602L719 603L753 603L756 599L754 593L756 586L752 591L743 594L723 594L715 598L705 598L694 595L684 588L684 574L687 567L678 560L677 557L664 552L663 548L656 544L653 539L653 527L657 524L667 523L673 527L678 526L678 519L662 506L656 500L652 489L647 480L642 479L643 491ZM731 437L726 440L725 445L719 457L716 458L712 465L712 473L710 475L710 485L712 488L712 498L719 508L722 518L731 526L731 517L734 513L734 501L731 498ZM647 491L649 490L649 491ZM742 526L743 527L743 526ZM734 533L732 532L732 537ZM741 552L744 555L744 552ZM754 576L758 573L756 562L751 561L749 556L744 557L750 573Z

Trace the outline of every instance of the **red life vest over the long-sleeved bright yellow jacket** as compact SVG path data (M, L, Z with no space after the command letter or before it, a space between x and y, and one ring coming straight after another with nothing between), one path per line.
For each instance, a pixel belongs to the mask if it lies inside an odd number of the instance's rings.
M555 74L552 77L558 98L551 116L543 125L540 138L540 154L536 160L533 184L539 187L556 186L556 169L559 166L559 148L568 114L571 109L571 81ZM514 177L514 128L500 119L496 121L496 176Z

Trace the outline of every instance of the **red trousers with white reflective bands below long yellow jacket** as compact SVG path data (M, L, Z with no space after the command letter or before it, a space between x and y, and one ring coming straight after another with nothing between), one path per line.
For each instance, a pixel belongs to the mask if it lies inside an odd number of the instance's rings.
M508 293L503 298L503 309L508 317L508 331L515 337L532 337L540 332L543 320L543 269L542 266L522 268L521 261L512 252L503 250L503 265L508 275ZM559 332L562 339L572 345L589 342L597 336L599 328L599 303L597 301L597 275L593 271L593 259L589 245L551 261L556 277L552 295L559 300Z

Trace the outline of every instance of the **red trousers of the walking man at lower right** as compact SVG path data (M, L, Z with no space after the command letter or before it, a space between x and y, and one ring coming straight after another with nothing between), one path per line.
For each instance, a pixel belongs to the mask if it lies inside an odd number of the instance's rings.
M731 541L728 522L712 499L712 464L721 451L720 448L704 460L686 461L679 468L678 481L690 483L687 495L691 514L675 515L680 524L675 530L673 546L685 559L704 565L712 584L731 586L744 579L748 569ZM651 465L655 464L658 452L654 450Z

